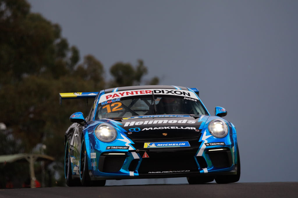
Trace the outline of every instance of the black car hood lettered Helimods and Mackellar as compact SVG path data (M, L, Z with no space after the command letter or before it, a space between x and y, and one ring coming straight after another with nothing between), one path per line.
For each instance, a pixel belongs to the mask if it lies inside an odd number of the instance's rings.
M135 141L198 139L207 118L203 116L168 115L122 118L124 133ZM205 116L208 117L208 116ZM123 130L122 130L123 131Z

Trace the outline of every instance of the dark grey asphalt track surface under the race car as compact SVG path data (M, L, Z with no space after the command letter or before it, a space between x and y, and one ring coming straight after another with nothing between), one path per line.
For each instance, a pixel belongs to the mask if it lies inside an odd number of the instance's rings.
M298 197L298 182L0 189L0 197Z

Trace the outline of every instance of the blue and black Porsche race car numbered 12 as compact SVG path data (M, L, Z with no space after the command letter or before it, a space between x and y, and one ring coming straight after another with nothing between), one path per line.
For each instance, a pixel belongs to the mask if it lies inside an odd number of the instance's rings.
M73 113L65 133L67 186L106 180L186 177L189 184L240 178L235 126L207 111L197 88L144 85L60 93L95 98L85 117Z

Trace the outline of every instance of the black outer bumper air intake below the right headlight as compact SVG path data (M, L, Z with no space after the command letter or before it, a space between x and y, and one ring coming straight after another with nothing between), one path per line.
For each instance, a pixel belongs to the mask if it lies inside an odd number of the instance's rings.
M231 167L232 155L230 150L208 152L211 163L217 168Z

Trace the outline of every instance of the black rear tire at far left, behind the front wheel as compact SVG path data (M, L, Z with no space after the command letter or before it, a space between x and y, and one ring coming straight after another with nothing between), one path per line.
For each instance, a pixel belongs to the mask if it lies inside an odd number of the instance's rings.
M68 141L66 141L65 144L64 177L67 186L80 186L80 181L72 178L72 167L70 162Z

